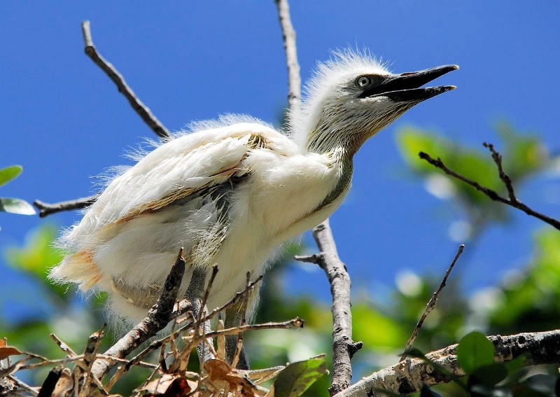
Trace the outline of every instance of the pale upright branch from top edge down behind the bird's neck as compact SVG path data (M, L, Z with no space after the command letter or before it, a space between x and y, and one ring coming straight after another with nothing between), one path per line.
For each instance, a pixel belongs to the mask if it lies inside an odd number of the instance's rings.
M278 17L282 29L286 65L288 67L288 104L292 111L299 111L301 102L300 64L297 62L297 47L295 46L295 30L290 18L288 0L274 0L278 8Z

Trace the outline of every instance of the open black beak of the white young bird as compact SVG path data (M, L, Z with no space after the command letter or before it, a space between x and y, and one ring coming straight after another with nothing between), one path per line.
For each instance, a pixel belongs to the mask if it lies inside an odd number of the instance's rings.
M366 97L388 97L394 102L421 102L443 92L454 90L454 85L420 88L444 74L459 69L457 65L445 65L410 73L392 74L384 77L358 95Z

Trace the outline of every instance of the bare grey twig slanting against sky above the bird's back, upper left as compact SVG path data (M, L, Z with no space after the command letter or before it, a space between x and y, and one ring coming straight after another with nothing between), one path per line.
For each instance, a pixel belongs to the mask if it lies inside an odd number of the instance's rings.
M121 75L112 64L107 62L104 57L102 57L98 52L92 41L92 32L90 29L90 21L82 22L82 33L83 41L85 44L85 53L92 61L100 67L109 78L117 85L118 91L125 96L125 98L132 106L132 109L138 113L138 115L144 120L144 123L150 127L153 132L158 134L158 137L162 139L168 139L171 134L167 128L160 123L160 120L156 118L153 113L148 109L148 106L143 104L141 100L134 95L132 88L127 85L125 78Z

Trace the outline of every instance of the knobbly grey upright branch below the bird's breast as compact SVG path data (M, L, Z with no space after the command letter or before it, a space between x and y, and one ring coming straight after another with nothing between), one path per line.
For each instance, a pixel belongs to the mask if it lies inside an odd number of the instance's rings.
M363 344L352 340L350 276L338 257L328 219L314 228L313 236L321 252L311 258L317 258L317 264L325 271L332 295L332 384L329 388L332 396L350 386L350 360Z

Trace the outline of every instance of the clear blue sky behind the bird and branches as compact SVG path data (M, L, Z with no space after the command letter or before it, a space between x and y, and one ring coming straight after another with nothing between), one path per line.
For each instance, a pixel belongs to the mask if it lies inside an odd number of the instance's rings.
M458 89L416 106L368 142L356 157L353 190L332 216L339 254L356 291L380 297L398 272L442 274L458 242L449 204L409 178L395 131L414 125L479 148L500 141L492 125L507 119L558 151L560 4L556 1L293 1L302 78L335 48L369 48L395 72L458 64L440 78ZM286 66L274 2L97 1L0 4L0 166L24 174L2 196L69 200L92 192L90 176L142 137L154 137L115 86L83 54L80 22L94 43L169 130L223 113L271 123L286 104ZM560 183L547 175L519 195L559 216ZM44 222L59 227L79 214L46 220L0 214L0 249L22 244ZM531 253L536 220L516 214L486 230L455 277L469 291L494 284ZM311 240L309 239L311 243ZM0 268L4 267L3 258ZM309 267L309 265L306 265ZM6 273L7 274L7 273ZM7 283L3 279L0 283ZM293 270L286 288L328 297L320 272Z

